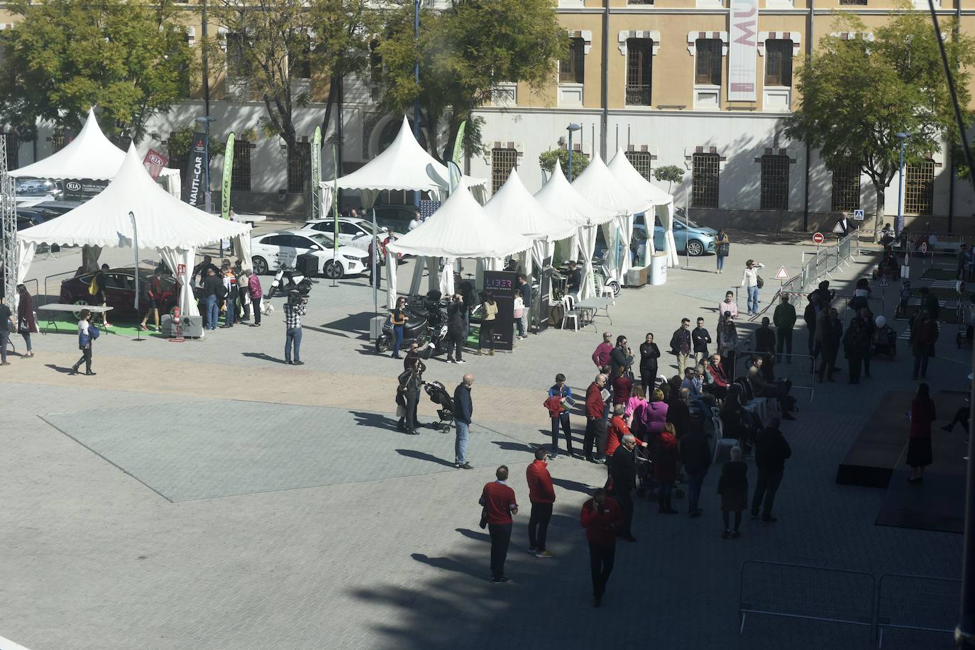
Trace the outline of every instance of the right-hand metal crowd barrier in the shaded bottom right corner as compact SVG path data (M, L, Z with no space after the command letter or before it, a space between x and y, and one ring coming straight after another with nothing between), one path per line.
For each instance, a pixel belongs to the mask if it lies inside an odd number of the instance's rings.
M911 645L905 647L922 647L917 636L926 637L931 644L925 645L934 647L933 637L944 635L948 647L955 631L960 593L960 580L884 573L878 581L877 647L883 647L884 631L911 636Z

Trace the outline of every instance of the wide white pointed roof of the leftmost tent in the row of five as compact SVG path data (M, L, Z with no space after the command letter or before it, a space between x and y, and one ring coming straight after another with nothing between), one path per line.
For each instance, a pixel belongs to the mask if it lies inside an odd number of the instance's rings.
M471 193L458 188L433 216L386 247L422 257L504 257L531 248L531 240L505 232Z

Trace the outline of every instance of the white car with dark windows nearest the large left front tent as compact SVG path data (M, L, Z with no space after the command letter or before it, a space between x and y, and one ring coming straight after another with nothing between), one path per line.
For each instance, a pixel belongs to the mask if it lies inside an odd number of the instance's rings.
M325 233L279 230L251 240L251 264L258 275L293 269L298 255L311 253L319 259L320 273L327 278L354 276L366 270L369 250L342 244L337 251L332 249L331 236Z

